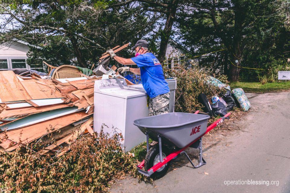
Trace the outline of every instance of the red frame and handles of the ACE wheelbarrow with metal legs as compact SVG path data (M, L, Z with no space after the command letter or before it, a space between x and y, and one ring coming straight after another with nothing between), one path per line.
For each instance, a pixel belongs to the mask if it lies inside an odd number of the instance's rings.
M194 114L197 114L199 111L196 111ZM180 153L184 153L186 155L186 157L188 158L188 160L191 162L192 166L195 168L198 168L204 164L206 164L205 160L202 158L202 148L201 148L201 139L202 137L207 134L209 131L211 131L211 129L215 128L218 124L220 124L221 122L224 121L225 118L227 118L231 113L227 113L226 115L224 115L223 117L219 118L217 121L215 121L213 124L211 124L210 126L207 127L206 131L204 134L202 134L201 136L199 136L198 138L196 138L194 141L192 141L190 144L188 144L187 146L183 147L180 150L177 150L173 153L170 153L166 158L163 159L162 162L157 163L156 165L154 165L152 168L148 169L148 171L143 170L144 167L144 162L145 160L143 160L138 166L138 172L145 175L145 176L151 176L154 172L156 172L156 170L158 170L159 168L161 168L162 166L164 166L166 163L168 163L169 161L171 161L173 158L175 158L176 156L178 156ZM200 141L200 146L199 146L199 164L197 166L194 166L194 164L192 163L191 159L188 157L187 153L184 151L187 147L191 146L192 144L194 144L196 141ZM147 141L148 141L148 137L147 137ZM148 146L148 143L147 143ZM148 151L148 147L147 147L147 151Z

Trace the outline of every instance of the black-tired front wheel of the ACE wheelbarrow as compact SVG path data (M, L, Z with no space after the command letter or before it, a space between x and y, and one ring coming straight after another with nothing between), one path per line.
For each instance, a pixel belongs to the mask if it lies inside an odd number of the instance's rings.
M170 150L166 146L162 146L162 157L163 159L168 156L170 153ZM152 168L154 165L159 163L159 146L158 144L154 145L150 148L148 153L146 154L145 160L144 160L144 167L145 170L148 171L148 169ZM159 179L163 177L167 170L169 169L170 161L167 162L164 166L156 170L150 177L153 179Z

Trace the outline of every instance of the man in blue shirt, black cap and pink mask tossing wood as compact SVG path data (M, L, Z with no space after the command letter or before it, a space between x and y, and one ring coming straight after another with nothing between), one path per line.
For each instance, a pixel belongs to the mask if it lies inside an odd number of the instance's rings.
M149 116L161 115L169 112L169 87L165 81L163 69L159 60L148 50L146 40L138 40L132 49L135 49L134 58L126 59L117 56L112 49L107 52L122 65L137 65L138 68L129 68L128 66L118 68L118 71L125 71L140 74L144 89L149 100Z

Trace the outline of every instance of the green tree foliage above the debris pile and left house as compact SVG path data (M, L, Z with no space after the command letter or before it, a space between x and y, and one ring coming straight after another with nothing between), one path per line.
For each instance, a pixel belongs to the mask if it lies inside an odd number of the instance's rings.
M15 25L13 30L6 30L0 42L18 38L32 45L45 45L33 50L38 53L29 54L31 63L46 60L56 66L75 63L87 67L88 61L96 64L108 48L137 42L154 28L158 16L140 11L134 3L3 0L0 14L11 17L3 17L0 26L5 29L10 23ZM120 54L129 56L127 51Z

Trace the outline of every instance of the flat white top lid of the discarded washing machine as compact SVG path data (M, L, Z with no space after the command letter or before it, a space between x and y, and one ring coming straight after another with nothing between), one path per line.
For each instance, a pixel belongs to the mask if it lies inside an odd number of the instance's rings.
M142 88L134 87L114 87L114 88L105 88L100 89L98 93L116 96L124 99L134 98L138 96L147 95L146 91Z

